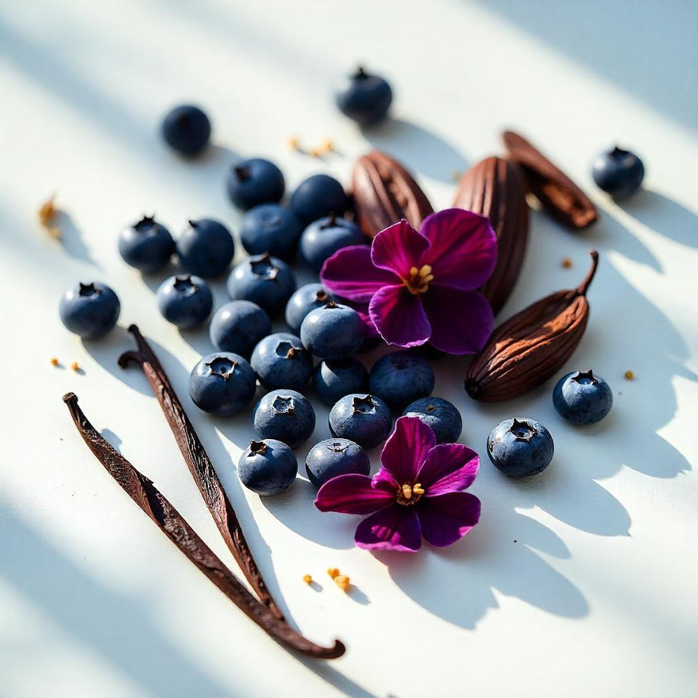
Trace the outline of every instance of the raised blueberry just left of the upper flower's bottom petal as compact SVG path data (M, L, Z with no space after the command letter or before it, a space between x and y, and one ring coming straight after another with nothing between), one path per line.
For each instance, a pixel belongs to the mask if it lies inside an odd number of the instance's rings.
M305 316L301 341L320 359L344 359L362 345L364 322L353 308L330 301Z

